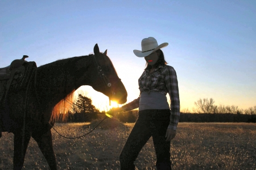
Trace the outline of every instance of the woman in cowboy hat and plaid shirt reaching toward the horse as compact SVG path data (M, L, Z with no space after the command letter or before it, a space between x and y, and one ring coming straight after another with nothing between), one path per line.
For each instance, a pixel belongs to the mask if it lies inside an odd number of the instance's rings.
M141 95L113 111L129 111L139 107L139 117L119 157L121 170L135 169L134 161L144 144L152 136L156 153L156 168L171 169L170 141L175 137L180 116L179 88L175 69L166 65L156 39L142 40L142 51L134 50L137 57L144 57L146 69L139 78ZM171 111L166 94L171 99Z

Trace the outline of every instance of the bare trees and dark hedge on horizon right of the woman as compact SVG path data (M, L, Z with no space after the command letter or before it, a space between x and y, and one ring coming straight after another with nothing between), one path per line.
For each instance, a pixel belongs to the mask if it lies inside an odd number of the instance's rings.
M256 123L256 106L240 109L238 106L214 105L213 98L198 99L192 111L181 109L180 122L253 122Z

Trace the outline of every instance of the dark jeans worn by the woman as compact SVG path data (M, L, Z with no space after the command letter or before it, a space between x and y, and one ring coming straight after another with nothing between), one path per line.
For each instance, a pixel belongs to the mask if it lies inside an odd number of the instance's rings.
M121 170L135 169L134 161L152 136L156 154L156 168L170 170L170 141L166 130L170 123L170 110L142 110L119 156Z

